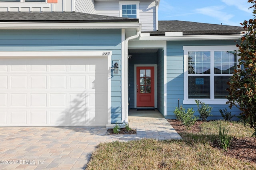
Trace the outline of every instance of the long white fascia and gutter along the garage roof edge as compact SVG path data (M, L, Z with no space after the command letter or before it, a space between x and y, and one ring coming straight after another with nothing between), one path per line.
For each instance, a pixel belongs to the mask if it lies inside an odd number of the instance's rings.
M0 29L122 29L138 28L141 23L106 22L106 23L31 23L0 22Z

